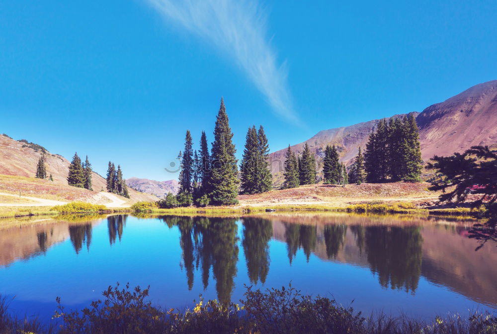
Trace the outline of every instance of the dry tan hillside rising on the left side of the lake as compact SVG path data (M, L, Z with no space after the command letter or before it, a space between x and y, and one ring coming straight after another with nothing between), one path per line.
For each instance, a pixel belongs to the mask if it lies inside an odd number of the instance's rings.
M48 179L34 178L36 164L42 153L45 154L47 175L52 174L53 182ZM69 165L70 162L66 158L52 154L38 144L25 140L14 140L6 134L0 134L0 191L15 192L22 189L24 194L31 196L41 195L50 199L94 202L92 198L98 195L99 191L105 189L105 179L93 172L94 191L68 186L66 178ZM7 176L16 176L17 178ZM132 189L130 189L130 197L131 202L157 201L156 196L142 194ZM97 198L99 197L97 196ZM127 201L125 198L122 199Z

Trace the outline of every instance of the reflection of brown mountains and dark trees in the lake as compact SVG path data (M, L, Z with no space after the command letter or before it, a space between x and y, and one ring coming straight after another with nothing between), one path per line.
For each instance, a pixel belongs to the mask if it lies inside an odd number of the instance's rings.
M246 284L264 284L272 264L287 261L291 266L299 256L307 262L315 256L324 262L369 268L384 288L414 295L424 277L479 303L497 303L497 252L490 244L475 252L475 240L467 238L472 222L341 214L151 219L179 232L176 245L170 247L180 247L185 289L192 290L196 279L207 289L213 278L221 302L232 299L240 261L245 260ZM67 239L76 254L83 249L91 254L92 231L102 221L111 246L127 237L128 215L2 227L0 266L44 255ZM286 258L271 259L271 242L284 243Z

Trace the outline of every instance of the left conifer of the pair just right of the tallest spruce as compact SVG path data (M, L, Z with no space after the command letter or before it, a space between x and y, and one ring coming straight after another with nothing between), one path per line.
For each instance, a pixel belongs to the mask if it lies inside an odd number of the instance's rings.
M259 145L255 125L248 128L245 149L240 164L240 180L244 194L257 193L257 163Z

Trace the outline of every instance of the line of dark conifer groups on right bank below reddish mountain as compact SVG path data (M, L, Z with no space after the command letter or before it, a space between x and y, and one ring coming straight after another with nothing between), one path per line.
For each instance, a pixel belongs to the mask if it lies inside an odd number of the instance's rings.
M301 155L296 155L289 145L285 158L283 188L318 182L315 154L307 143ZM366 150L363 152L361 147L358 148L348 173L339 161L335 145L326 146L322 163L325 184L419 182L422 160L414 115L392 117L388 122L380 120L369 136Z

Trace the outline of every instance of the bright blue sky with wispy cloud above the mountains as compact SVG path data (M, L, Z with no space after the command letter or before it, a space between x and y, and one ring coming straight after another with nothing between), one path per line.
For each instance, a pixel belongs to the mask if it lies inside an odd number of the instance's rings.
M223 96L239 155L422 111L497 79L488 1L0 2L0 132L95 171L168 180L183 145L212 140Z

